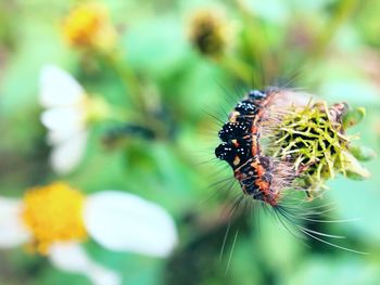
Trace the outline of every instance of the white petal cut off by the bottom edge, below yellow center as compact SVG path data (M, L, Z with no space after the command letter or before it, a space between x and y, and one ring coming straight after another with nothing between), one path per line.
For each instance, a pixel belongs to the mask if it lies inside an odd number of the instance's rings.
M121 276L98 263L76 243L58 243L49 249L50 261L60 270L80 273L96 285L118 285Z

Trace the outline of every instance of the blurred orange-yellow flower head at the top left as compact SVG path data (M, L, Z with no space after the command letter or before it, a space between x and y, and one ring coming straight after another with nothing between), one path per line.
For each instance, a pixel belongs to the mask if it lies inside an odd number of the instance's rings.
M94 3L74 9L64 23L63 33L67 42L76 47L105 48L115 39L105 8Z

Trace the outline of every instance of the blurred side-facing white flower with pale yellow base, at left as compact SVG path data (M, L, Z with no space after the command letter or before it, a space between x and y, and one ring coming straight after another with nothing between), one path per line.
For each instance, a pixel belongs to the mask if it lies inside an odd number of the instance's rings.
M106 116L107 105L88 96L69 74L54 65L40 73L40 103L46 108L41 122L53 146L51 165L58 173L68 173L84 156L89 122Z

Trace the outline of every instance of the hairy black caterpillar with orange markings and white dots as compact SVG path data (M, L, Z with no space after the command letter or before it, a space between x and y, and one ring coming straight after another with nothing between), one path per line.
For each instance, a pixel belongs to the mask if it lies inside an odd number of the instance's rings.
M259 143L263 122L269 119L268 106L283 95L277 88L249 91L219 130L221 143L215 148L215 156L232 168L244 195L270 206L279 204L280 190L289 187L295 178L290 164L264 155Z

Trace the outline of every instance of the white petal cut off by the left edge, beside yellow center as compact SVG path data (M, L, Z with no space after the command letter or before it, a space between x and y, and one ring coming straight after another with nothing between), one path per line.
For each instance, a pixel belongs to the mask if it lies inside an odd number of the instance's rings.
M21 200L0 197L0 247L15 247L29 239L21 213Z

